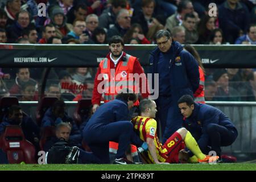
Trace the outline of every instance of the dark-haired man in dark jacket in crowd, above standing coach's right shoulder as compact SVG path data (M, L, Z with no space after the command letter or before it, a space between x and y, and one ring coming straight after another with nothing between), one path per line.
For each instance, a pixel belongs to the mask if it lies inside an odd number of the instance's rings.
M193 14L186 14L182 26L185 28L185 43L196 43L199 39L199 35L196 30L196 16Z

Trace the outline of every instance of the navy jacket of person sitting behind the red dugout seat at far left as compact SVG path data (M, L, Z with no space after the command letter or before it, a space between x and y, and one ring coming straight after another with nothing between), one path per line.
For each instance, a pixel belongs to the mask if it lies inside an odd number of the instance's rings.
M3 117L3 121L0 123L0 134L5 132L5 128L8 125L19 125L19 123L16 123L13 119L9 119L8 117ZM23 117L20 127L22 128L26 140L35 143L34 138L39 139L39 127L30 117Z

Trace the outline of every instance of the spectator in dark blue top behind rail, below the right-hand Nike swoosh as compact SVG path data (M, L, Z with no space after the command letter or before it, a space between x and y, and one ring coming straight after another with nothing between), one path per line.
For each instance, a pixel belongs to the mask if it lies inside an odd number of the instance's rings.
M214 101L241 101L238 91L229 86L229 76L226 69L215 71L213 73L213 80L217 84Z

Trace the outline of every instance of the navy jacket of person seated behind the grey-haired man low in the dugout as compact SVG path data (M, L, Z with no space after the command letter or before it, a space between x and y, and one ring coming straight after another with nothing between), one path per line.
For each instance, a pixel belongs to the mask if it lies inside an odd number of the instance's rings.
M78 146L80 146L81 145L80 143L82 142L82 135L76 123L73 121L71 117L68 116L67 113L64 114L64 118L60 119L60 118L56 118L55 115L52 114L52 108L47 109L42 119L41 127L44 128L47 126L57 126L60 122L71 123L72 129L71 129L69 140L72 140L73 143L76 143Z

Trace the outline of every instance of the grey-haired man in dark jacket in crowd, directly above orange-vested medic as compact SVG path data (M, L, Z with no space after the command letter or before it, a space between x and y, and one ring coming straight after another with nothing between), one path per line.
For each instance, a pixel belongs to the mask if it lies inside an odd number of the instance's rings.
M114 35L123 37L130 27L131 17L129 11L126 9L121 9L117 14L115 25L108 30L108 37L112 38Z

